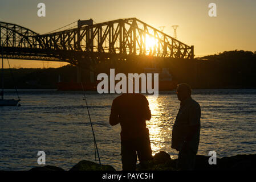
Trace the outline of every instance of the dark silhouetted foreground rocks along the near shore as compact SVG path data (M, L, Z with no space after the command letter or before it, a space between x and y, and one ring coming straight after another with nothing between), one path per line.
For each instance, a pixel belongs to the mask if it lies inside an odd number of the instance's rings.
M235 155L231 157L217 158L217 164L210 165L208 160L210 156L197 155L196 171L236 171L236 170L256 170L256 154ZM171 159L170 155L164 151L153 156L153 160L148 163L146 168L141 168L137 164L137 171L177 171L177 159ZM64 171L64 169L55 166L34 167L30 171ZM88 160L82 160L69 171L115 171L115 168L109 165L96 164Z

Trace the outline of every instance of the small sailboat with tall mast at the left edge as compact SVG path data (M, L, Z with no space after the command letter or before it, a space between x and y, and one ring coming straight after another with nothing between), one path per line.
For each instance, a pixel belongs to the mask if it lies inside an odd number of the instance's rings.
M2 46L1 46L1 52L2 52L2 90L1 90L1 92L0 92L0 96L1 96L1 98L0 98L0 106L21 106L20 104L19 104L19 101L21 101L20 99L18 99L18 100L14 100L14 99L4 99L3 98L3 42L2 42ZM18 95L18 92L17 92L17 89L15 89L16 90L16 93L17 93L17 95ZM18 95L18 98L19 98L19 95Z

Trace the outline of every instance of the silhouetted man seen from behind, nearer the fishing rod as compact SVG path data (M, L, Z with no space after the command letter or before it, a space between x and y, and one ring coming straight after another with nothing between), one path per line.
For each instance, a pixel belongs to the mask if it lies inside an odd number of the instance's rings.
M137 155L140 164L152 160L146 120L151 119L148 100L143 94L125 93L113 100L109 123L121 125L121 160L123 170L135 170ZM137 152L137 154L136 154Z

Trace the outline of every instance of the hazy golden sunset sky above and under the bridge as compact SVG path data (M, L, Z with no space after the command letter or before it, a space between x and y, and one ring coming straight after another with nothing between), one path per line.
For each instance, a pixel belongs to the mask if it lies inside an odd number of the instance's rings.
M46 16L38 17L38 3L46 5ZM210 17L209 3L216 3L217 16ZM78 19L96 23L137 18L194 46L196 56L235 49L256 51L255 0L8 0L0 1L0 21L18 24L39 34L66 26ZM66 63L10 60L14 68L60 67ZM6 65L6 64L5 64Z

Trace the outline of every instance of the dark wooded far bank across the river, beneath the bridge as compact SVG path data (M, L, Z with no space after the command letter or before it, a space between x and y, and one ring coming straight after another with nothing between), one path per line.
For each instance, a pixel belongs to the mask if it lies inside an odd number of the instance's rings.
M13 76L5 69L3 72L6 89L58 89L58 82L76 83L78 80L96 82L100 73L109 74L109 68L116 73L143 73L145 68L166 69L172 80L186 82L192 89L255 89L256 88L256 51L224 51L200 59L152 59L152 61L110 61L95 64L93 71L74 65L60 68L20 68L14 69ZM150 64L149 64L150 63ZM13 78L14 77L14 78ZM71 86L72 88L72 86ZM161 89L159 89L161 90Z

